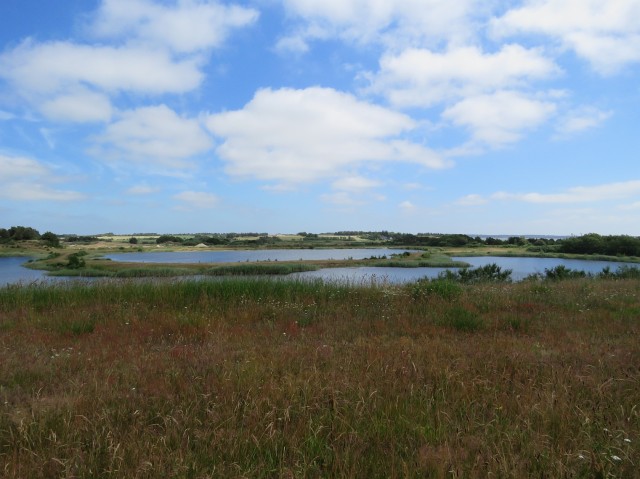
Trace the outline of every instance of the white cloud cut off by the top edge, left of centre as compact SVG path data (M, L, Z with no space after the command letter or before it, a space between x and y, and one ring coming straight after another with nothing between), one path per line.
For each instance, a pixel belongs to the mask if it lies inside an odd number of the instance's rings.
M190 53L221 46L232 29L251 25L258 16L255 9L210 0L104 0L90 31Z

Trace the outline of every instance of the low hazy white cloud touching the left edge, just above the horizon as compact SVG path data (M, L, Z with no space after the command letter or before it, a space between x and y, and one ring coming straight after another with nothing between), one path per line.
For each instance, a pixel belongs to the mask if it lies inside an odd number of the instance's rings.
M62 178L46 165L30 158L0 154L0 197L13 201L75 201L84 195L59 190L51 183Z

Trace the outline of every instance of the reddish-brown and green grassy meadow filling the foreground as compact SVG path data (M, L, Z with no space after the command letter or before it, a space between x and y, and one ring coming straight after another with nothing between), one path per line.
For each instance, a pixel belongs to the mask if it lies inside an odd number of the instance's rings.
M563 277L1 288L0 475L635 477L640 281Z

